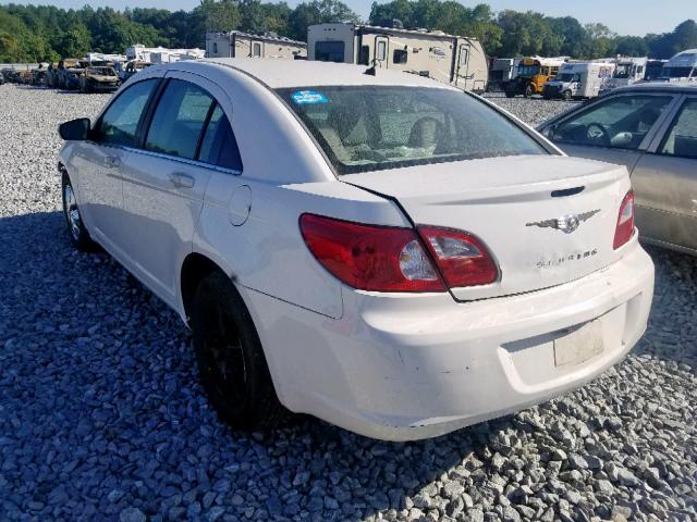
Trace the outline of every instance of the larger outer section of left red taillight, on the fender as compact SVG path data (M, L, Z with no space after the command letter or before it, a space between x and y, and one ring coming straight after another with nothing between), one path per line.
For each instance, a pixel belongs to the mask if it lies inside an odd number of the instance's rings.
M364 225L303 214L305 244L331 274L374 291L444 291L431 260L411 228Z

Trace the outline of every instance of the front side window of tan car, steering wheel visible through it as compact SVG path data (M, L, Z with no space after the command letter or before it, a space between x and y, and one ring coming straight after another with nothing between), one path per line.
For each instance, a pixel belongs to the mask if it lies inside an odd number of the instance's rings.
M575 114L551 130L553 141L638 149L672 101L670 96L616 96Z

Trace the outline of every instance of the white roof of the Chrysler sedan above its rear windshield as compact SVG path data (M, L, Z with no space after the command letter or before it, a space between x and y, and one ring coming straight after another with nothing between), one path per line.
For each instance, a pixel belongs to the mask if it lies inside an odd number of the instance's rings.
M316 62L307 60L216 58L176 62L175 65L205 76L206 69L228 69L256 78L272 89L286 87L339 86L339 85L400 85L413 87L440 87L453 89L418 74L377 69L375 76L365 74L368 66L347 63Z

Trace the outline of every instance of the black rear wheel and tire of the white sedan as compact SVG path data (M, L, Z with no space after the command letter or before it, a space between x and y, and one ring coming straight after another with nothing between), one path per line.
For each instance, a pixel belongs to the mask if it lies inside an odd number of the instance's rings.
M243 431L283 421L288 410L276 395L252 315L222 272L198 285L191 326L200 382L218 417Z

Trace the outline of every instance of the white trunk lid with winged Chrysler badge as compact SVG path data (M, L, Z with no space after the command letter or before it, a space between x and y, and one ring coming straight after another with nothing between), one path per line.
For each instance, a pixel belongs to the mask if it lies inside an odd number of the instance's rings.
M486 244L499 281L452 288L457 300L560 285L622 256L612 244L629 190L624 166L535 156L376 171L341 181L398 200L417 225L461 229ZM564 219L570 215L575 219Z

